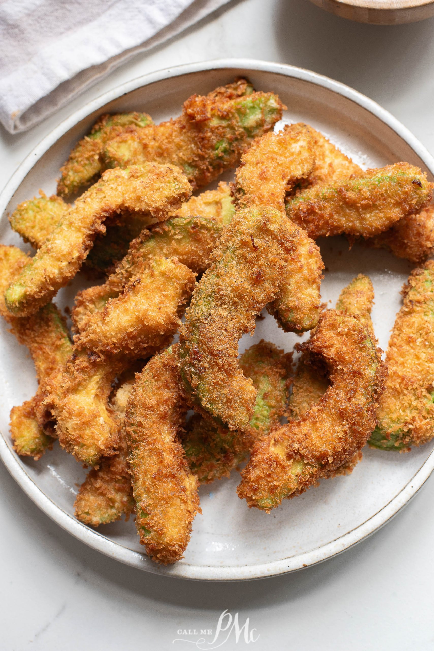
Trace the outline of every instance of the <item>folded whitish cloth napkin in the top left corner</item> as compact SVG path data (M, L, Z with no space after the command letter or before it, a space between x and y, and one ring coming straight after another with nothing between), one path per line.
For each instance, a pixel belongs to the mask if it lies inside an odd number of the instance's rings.
M25 131L229 0L0 0L0 121Z

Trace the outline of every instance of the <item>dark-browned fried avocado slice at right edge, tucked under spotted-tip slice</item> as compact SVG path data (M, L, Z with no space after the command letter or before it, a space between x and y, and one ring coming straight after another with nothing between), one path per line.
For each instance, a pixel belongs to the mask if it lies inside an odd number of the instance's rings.
M434 206L416 215L408 215L390 229L370 238L366 243L376 249L387 249L398 258L420 264L434 247Z

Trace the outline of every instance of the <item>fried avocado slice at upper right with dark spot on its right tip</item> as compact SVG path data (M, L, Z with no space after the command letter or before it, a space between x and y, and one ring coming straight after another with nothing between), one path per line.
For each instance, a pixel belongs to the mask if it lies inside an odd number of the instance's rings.
M432 187L418 167L394 163L303 190L288 201L287 214L314 240L342 233L370 238L426 208Z

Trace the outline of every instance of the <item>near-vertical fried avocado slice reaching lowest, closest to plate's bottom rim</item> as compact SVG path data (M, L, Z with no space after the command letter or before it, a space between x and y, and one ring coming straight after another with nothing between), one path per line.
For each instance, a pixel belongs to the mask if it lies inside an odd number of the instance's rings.
M125 413L137 532L151 559L164 564L183 557L201 512L198 480L178 439L186 411L173 346L147 363Z

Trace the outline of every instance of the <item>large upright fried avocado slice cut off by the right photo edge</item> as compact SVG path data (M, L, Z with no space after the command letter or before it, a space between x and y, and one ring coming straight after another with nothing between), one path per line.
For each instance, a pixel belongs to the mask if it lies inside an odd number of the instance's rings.
M370 445L407 450L434 436L434 262L411 272L403 287L386 353L389 375Z

